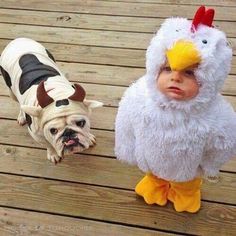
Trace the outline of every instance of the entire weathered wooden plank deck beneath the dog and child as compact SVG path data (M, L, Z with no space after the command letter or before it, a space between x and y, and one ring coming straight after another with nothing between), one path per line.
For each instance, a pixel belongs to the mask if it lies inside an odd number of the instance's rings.
M176 4L178 3L178 4ZM58 165L16 122L18 104L0 78L0 235L236 235L236 160L204 183L202 209L146 205L137 168L115 159L114 120L127 86L144 74L145 49L164 18L191 18L207 4L234 49L223 94L236 108L235 0L1 0L0 51L16 37L42 42L71 81L104 102L92 118L97 145Z

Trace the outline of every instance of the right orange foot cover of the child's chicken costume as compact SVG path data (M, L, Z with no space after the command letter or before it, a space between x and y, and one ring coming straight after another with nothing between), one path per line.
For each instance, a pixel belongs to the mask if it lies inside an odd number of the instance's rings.
M196 178L188 182L169 182L168 200L174 203L177 212L195 213L200 209L202 180Z

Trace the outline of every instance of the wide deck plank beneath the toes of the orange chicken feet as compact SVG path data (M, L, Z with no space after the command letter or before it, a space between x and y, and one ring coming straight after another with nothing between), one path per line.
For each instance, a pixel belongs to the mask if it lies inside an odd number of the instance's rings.
M202 202L198 214L177 214L171 204L147 205L133 191L7 174L0 178L1 206L197 235L234 235L236 230L236 207L230 205Z

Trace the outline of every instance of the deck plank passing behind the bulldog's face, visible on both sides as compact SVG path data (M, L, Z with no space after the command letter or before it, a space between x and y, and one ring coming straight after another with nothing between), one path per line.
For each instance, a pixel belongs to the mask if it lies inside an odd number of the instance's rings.
M9 127L11 127L11 129L9 129ZM114 156L114 132L92 129L91 133L96 136L97 144L84 151L84 153L109 157ZM1 120L0 134L1 144L43 148L30 137L27 128L20 127L15 120Z

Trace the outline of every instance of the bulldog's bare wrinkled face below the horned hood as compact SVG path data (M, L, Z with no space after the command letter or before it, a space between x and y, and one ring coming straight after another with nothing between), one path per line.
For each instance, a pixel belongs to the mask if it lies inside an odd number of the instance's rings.
M79 114L55 118L43 127L44 137L61 157L89 148L89 131L88 117Z

